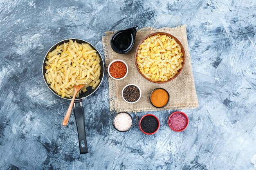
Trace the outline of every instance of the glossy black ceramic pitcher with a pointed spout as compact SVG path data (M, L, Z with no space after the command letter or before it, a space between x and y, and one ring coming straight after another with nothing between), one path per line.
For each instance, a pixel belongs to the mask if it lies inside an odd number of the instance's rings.
M110 40L111 48L119 54L128 53L135 43L138 29L139 27L136 25L129 29L117 31Z

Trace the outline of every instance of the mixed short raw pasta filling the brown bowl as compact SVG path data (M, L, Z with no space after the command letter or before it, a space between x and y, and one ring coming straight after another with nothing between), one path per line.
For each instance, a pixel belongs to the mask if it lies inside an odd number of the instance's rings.
M153 35L141 42L137 51L140 72L156 82L173 78L182 68L180 44L167 35Z

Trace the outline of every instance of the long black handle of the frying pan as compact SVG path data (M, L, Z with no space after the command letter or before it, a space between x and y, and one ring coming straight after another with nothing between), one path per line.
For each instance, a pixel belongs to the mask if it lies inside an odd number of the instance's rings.
M88 153L88 147L85 134L85 119L82 101L76 101L74 103L74 115L76 119L80 154L85 154Z

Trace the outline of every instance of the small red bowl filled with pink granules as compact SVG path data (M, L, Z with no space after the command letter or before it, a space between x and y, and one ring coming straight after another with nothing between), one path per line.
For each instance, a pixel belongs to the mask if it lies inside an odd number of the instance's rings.
M173 112L168 119L168 125L175 132L182 132L186 127L188 127L189 118L183 112Z

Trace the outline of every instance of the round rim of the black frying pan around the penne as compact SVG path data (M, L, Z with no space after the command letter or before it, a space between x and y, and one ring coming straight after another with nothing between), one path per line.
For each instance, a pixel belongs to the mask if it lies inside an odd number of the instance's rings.
M85 40L82 40L82 39L79 39L79 38L67 38L67 39L65 39L65 40L61 40L61 41L55 43L52 47L54 47L56 44L58 44L58 43L60 43L60 42L66 41L66 40L81 40L81 41L84 41L84 42L90 44L91 46L93 46L93 47L97 50L97 52L99 53L99 56L101 57L102 64L103 64L103 76L102 76L102 80L100 81L98 87L97 87L96 89L94 89L94 91L90 94L90 95L92 95L95 91L98 90L99 86L101 86L101 83L103 82L103 77L104 77L104 74L105 74L105 64L104 64L104 62L103 62L103 58L102 58L102 56L101 56L101 53L100 53L99 50L98 50L94 45L92 45L90 42L85 41ZM45 82L45 76L44 76L44 71L43 71L43 69L44 69L44 66L43 66L43 65L44 65L44 62L45 62L45 58L47 57L47 54L48 54L49 51L52 49L52 47L47 51L47 53L45 54L45 57L44 57L44 59L43 59L42 74L43 74L44 82ZM47 82L45 82L45 84L46 84L46 86L50 89L50 91L52 91L52 93L54 93L54 91L49 87L49 85L47 84ZM61 97L60 95L57 95L56 93L54 93L54 95L56 95L56 96L58 96L58 97ZM85 97L89 97L90 95L85 96ZM75 99L75 101L79 101L79 100L81 100L81 99L84 99L85 97L82 97L82 98L79 98L79 99ZM61 98L66 99L66 100L72 100L72 98L70 98L70 99L67 99L67 98L65 98L65 97L61 97Z

